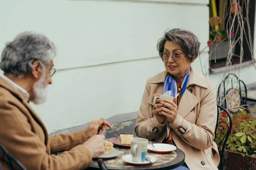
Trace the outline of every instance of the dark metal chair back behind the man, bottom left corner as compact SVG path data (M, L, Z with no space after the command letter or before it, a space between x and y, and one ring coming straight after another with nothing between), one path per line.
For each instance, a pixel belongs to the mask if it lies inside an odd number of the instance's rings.
M11 170L17 170L17 167L19 168L19 170L26 170L23 164L21 164L20 161L11 156L2 144L0 144L0 159L7 160L7 164L9 165Z

